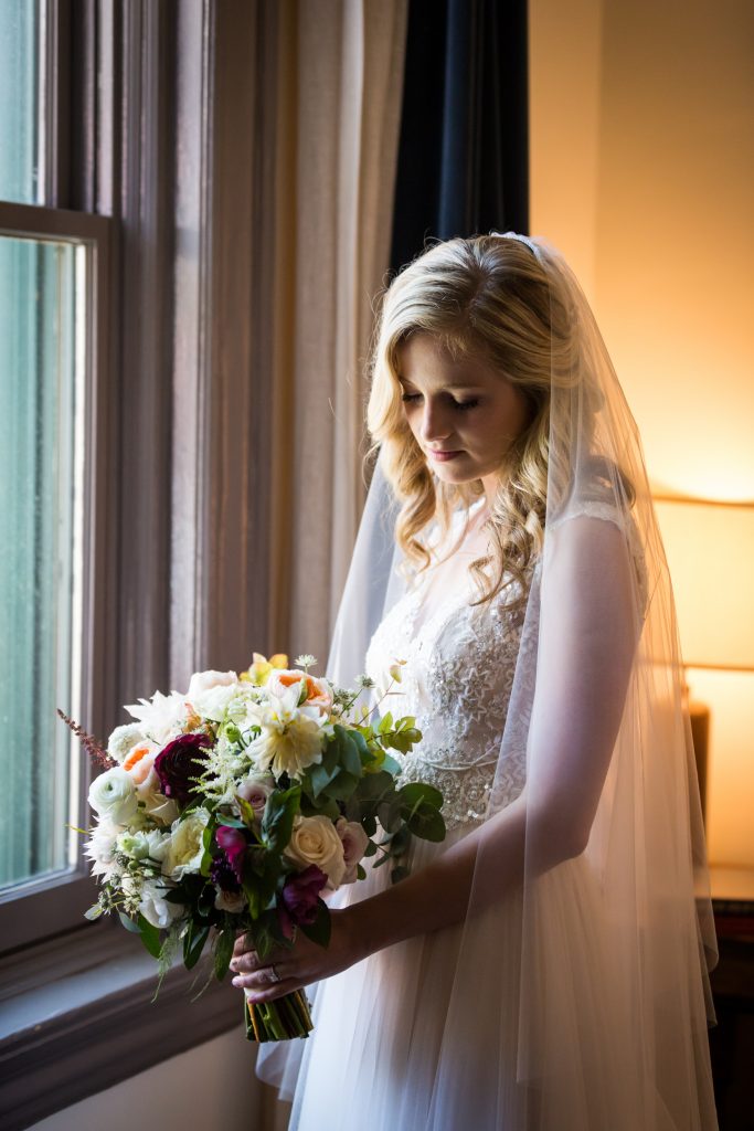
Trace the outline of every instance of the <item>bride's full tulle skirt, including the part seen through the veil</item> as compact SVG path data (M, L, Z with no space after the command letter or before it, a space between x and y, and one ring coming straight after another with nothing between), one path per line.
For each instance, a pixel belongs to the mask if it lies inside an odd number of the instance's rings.
M416 841L411 867L467 831ZM522 966L514 889L318 985L314 1033L263 1046L258 1069L293 1096L289 1131L716 1128L705 1026L692 1035L668 1000L667 1036L648 1059L631 962L607 932L599 880L586 855L556 872L545 878L553 890L535 962L529 955ZM337 898L346 906L389 882L378 869Z

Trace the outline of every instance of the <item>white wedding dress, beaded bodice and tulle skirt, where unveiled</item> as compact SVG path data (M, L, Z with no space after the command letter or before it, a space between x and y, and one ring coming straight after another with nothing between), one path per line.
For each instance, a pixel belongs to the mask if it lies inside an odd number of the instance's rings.
M366 657L367 674L378 684L384 683L390 664L406 661L401 683L395 688L400 694L391 696L382 711L416 716L423 741L404 759L402 780L430 782L445 798L447 839L441 845L415 839L414 870L483 817L519 651L523 613L506 610L510 588L508 596L469 607L476 587L467 567L483 550L477 519L483 504L479 500L471 508L467 535L452 555L392 607ZM451 533L458 538L462 532L457 524ZM511 801L523 779L523 760L506 768ZM387 883L387 867L367 872L366 880L341 889L340 906ZM387 948L318 986L314 1034L304 1043L291 1131L424 1131L436 1123L440 1111L448 1126L468 1125L475 1131L515 1126L511 1121L515 1119L520 896L509 898L506 938L499 931L494 938L485 933L484 915L473 927L478 1000L456 1004L449 1012L462 925ZM496 1011L486 1016L479 1009L485 987L496 986L499 993L501 978L509 983L510 1010L504 1017ZM482 1055L491 1047L489 1027L496 1044L501 1027L505 1030L503 1047L510 1050L508 1113L494 1110L500 1107L499 1065L487 1065ZM469 1055L475 1047L479 1056ZM475 1070L466 1068L460 1077L441 1068L441 1063L470 1062ZM486 1071L494 1079L487 1081Z

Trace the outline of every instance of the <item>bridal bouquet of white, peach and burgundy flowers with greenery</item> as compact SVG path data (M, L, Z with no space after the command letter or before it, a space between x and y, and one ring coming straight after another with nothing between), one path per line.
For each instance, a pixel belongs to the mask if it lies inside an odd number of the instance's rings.
M327 946L323 895L364 878L367 857L399 880L413 835L444 837L442 795L401 786L390 753L421 740L414 718L371 722L376 707L358 700L372 681L336 688L310 674L313 656L292 670L286 656L253 661L127 707L135 722L106 751L62 716L104 768L89 789L98 819L86 854L102 889L87 916L118 912L161 975L181 950L191 968L209 947L223 978L242 931L261 958L297 930ZM400 664L390 677L400 681ZM301 991L246 1001L246 1013L257 1041L312 1028Z

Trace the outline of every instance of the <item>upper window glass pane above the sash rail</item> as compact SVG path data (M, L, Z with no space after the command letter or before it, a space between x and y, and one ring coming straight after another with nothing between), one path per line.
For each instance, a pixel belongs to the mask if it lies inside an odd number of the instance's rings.
M41 0L0 0L0 200L42 204Z

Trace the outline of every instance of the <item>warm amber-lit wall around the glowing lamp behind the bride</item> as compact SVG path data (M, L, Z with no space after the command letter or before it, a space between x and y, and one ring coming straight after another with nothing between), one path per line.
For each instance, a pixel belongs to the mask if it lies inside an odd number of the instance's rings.
M531 231L592 301L657 490L752 502L754 5L529 0L529 15ZM738 553L754 561L754 544ZM694 584L703 599L730 576L721 554ZM690 683L712 709L710 857L754 865L754 675Z

